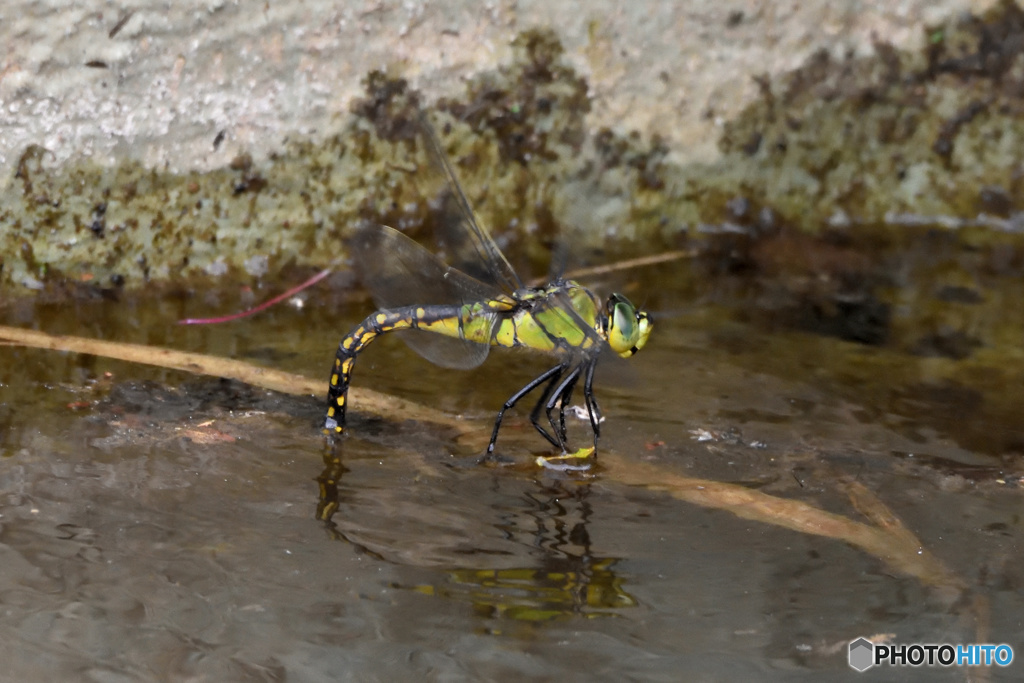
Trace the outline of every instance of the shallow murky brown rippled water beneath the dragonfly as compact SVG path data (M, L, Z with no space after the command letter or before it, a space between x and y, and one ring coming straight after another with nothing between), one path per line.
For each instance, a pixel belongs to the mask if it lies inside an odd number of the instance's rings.
M678 308L682 296L650 305ZM4 313L319 376L365 312L311 302L231 325L170 324L210 303ZM599 381L601 466L578 475L531 465L544 441L521 414L499 441L515 464L475 463L493 411L543 358L499 350L454 373L382 340L355 386L465 415L473 429L360 416L353 403L340 506L325 525L322 396L0 347L0 678L860 680L846 645L877 634L1007 642L1020 656L1014 463L935 420L936 404L962 410L955 395L879 404L878 387L836 370L899 364L887 353L712 305L663 315L650 346ZM928 358L903 365L893 395L932 372ZM572 434L587 438L580 425ZM854 481L945 573L684 502L673 477L865 521L842 483ZM986 675L1012 680L1019 668Z

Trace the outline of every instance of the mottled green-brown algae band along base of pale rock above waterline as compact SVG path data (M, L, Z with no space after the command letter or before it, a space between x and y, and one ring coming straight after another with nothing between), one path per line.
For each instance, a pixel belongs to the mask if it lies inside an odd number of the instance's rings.
M326 122L337 132L291 138L267 160L175 174L130 160L52 167L32 146L0 197L0 288L274 281L343 260L359 220L427 232L434 198L409 130L419 108L525 272L546 267L559 242L606 259L711 234L709 253L727 255L727 268L754 263L748 247L780 232L882 234L895 247L908 225L934 225L975 247L1014 245L1024 11L1007 1L923 31L916 52L819 52L761 79L763 97L725 124L714 163L672 163L656 135L591 131L588 84L543 30L433 105L397 71L370 74L350 115ZM920 348L944 348L933 342Z

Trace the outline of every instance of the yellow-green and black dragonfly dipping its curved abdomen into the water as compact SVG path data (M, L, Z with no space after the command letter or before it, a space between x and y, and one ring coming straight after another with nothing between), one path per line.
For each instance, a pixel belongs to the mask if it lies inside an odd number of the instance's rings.
M602 422L594 397L594 371L609 350L630 357L643 348L652 330L646 311L621 294L601 301L572 280L555 278L527 287L490 234L480 225L455 176L433 128L421 115L420 137L427 157L444 181L442 205L447 259L442 259L393 227L367 224L351 247L365 265L364 284L379 309L355 326L338 345L331 370L324 432L345 432L352 368L359 353L381 335L409 330L406 341L428 360L445 368L479 366L492 347L525 348L556 358L555 365L513 393L495 419L485 458L494 457L505 414L540 390L529 421L560 456L538 460L556 469L561 458L596 453ZM594 436L593 449L569 453L565 410L583 381L584 402ZM557 414L555 413L557 409ZM543 414L543 420L542 420Z

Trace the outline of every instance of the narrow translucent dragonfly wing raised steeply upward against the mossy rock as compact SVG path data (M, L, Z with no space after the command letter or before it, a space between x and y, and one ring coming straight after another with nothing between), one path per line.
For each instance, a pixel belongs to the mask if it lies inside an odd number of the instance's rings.
M444 180L439 196L440 216L436 234L447 262L506 294L522 289L522 282L512 264L490 234L476 222L440 140L422 113L420 128L427 158L437 175Z

